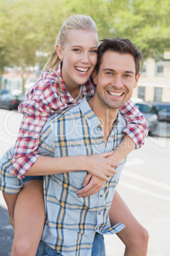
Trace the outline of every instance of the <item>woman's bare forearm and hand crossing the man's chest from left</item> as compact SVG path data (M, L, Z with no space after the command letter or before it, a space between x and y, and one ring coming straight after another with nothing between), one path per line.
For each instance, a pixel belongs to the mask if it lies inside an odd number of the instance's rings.
M35 164L30 167L25 176L39 176L70 171L88 171L102 180L109 180L108 176L114 176L117 171L114 167L119 164L107 159L113 152L96 155L76 155L71 157L46 157L40 155Z

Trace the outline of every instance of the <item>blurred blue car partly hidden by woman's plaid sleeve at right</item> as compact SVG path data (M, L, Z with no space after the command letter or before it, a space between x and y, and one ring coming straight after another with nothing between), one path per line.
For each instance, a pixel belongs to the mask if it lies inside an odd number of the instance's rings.
M158 111L152 103L143 101L141 103L136 103L136 107L141 111L143 116L148 122L149 133L151 134L157 129L159 123Z

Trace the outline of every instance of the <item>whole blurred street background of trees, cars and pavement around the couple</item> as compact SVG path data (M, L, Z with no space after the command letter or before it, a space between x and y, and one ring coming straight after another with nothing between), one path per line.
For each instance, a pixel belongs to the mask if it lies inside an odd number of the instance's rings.
M99 39L129 38L143 53L133 101L150 134L129 155L117 190L149 231L149 256L170 255L169 13L169 0L0 0L0 156L15 143L22 118L18 104L41 74L70 15L91 16ZM10 255L13 230L2 194L0 213L0 255ZM123 255L116 236L105 241L107 256Z

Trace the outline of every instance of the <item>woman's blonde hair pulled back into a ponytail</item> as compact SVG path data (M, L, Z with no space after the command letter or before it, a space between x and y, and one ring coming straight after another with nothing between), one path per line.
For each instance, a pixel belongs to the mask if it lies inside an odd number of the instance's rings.
M63 23L58 33L58 36L56 37L55 48L56 45L60 45L61 49L64 48L65 42L67 41L67 34L69 30L88 30L98 33L96 24L91 17L85 15L72 15ZM59 63L60 58L58 57L58 54L54 49L53 53L51 53L51 56L48 59L48 62L42 69L42 72L53 71L58 78L56 68L58 67Z

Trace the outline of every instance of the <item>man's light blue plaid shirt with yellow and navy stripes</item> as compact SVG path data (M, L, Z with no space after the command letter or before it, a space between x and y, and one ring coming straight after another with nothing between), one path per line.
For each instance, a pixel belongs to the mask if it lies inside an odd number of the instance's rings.
M63 157L108 152L121 143L124 127L126 122L119 113L105 146L101 122L84 98L79 105L48 118L41 132L39 153L49 157ZM84 198L78 198L76 192L82 188L87 171L44 176L46 221L42 241L62 255L88 256L91 255L95 232L114 234L121 231L124 228L121 223L111 227L108 211L124 163L125 159L119 164L117 174L106 181L98 193ZM8 164L6 161L6 168ZM7 178L10 179L10 176ZM11 191L20 187L16 180ZM4 192L10 192L6 185L3 187Z

